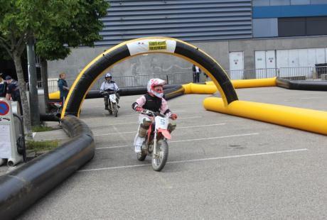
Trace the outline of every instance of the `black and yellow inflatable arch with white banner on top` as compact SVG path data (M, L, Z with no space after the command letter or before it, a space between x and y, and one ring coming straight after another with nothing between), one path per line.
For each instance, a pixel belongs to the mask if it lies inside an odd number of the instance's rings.
M144 53L166 53L182 57L198 65L212 80L220 92L225 105L238 100L230 79L218 62L194 45L174 38L139 38L110 48L90 62L75 79L62 111L65 115L79 116L82 101L98 77L112 65L129 57Z

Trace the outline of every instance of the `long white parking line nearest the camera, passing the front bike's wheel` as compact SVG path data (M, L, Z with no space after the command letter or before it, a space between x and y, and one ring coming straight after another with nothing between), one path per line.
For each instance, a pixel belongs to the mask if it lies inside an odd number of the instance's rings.
M272 151L272 152L264 152L264 153L250 153L250 154L243 154L243 155L231 155L231 156L225 156L225 157L218 157L218 158L202 158L202 159L194 159L194 160L178 160L178 161L169 161L167 164L173 164L173 163L193 163L193 162L200 162L200 161L207 161L207 160L222 160L222 159L230 159L230 158L245 158L245 157L253 157L253 156L259 156L259 155L271 155L271 154L278 154L278 153L295 153L295 152L301 152L306 151L308 149L302 148L302 149L295 149L295 150L279 150L279 151ZM88 170L78 170L78 172L89 172L89 171L100 171L100 170L117 170L117 169L126 169L126 168L132 168L132 167L144 167L149 166L151 164L139 164L139 165L127 165L127 166L119 166L119 167L103 167L103 168L97 168L97 169L88 169Z

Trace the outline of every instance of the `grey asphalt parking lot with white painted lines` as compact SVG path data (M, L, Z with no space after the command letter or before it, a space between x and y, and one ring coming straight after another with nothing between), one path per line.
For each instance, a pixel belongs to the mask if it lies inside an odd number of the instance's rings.
M326 92L238 89L240 99L327 111ZM139 96L118 118L87 99L95 158L20 219L326 219L326 136L205 111L208 95L168 101L178 114L168 163L155 172L132 142Z

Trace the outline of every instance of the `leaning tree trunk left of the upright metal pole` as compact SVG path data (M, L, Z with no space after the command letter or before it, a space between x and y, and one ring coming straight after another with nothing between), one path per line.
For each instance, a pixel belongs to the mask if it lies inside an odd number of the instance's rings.
M23 68L21 67L21 56L17 53L14 53L13 55L15 68L16 68L16 74L18 78L18 86L19 86L19 92L21 94L21 105L23 109L23 119L24 119L24 126L25 126L25 132L27 134L28 138L32 138L32 125L31 125L31 114L30 110L28 108L28 101L26 96L26 85L23 75Z

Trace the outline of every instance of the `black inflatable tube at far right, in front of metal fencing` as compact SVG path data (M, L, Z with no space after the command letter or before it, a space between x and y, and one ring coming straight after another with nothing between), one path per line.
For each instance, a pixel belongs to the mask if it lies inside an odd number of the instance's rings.
M327 81L276 79L277 87L294 90L327 91Z

